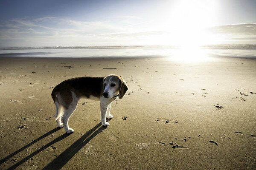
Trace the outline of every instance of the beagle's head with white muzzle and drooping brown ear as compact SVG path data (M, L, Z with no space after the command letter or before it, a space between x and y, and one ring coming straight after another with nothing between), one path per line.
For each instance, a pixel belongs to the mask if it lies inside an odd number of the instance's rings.
M103 96L105 98L112 98L113 96L118 95L118 98L122 99L128 90L125 80L122 77L114 74L111 74L103 79L103 88Z

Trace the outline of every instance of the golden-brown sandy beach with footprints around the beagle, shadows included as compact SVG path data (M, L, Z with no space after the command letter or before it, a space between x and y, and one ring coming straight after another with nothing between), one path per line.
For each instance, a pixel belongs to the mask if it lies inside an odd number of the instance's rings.
M75 132L56 128L52 87L108 74L129 87L110 126L99 102L81 100ZM256 169L253 59L2 57L0 96L0 169Z

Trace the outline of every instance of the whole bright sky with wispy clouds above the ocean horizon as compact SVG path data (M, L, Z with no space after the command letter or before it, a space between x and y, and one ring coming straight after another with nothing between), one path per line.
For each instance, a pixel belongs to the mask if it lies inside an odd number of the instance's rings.
M256 44L256 0L0 0L0 47Z

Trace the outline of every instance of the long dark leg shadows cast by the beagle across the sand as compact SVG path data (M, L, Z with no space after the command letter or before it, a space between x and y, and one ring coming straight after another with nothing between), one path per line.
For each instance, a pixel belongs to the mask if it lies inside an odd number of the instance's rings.
M102 132L106 127L100 127L102 123L98 123L95 127L88 130L83 136L81 136L76 142L74 142L70 147L68 147L64 152L62 152L59 156L57 156L54 160L52 160L49 164L47 164L43 170L49 170L54 167L54 169L61 169L70 159L73 158L73 156L76 155L76 153L79 152L79 150L84 147L85 144L90 142L91 139L93 139L97 134ZM99 128L100 127L100 128ZM60 130L60 128L55 128L44 135L40 136L38 139L35 139L34 141L30 142L26 146L20 148L19 150L15 151L14 153L11 153L9 156L6 156L5 158L0 160L0 164L3 164L5 161L7 161L9 158L12 158L17 153L20 153L22 150L25 150L27 147L31 146L32 144L35 144L39 140L49 136L50 134ZM33 156L37 155L41 151L45 150L47 147L52 146L52 144L55 144L56 142L61 141L62 139L66 138L70 134L64 133L61 136L58 136L56 139L52 140L48 144L45 144L43 147L39 148L35 152L31 153L29 156L26 156L24 159L21 159L16 164L12 165L12 167L9 167L8 170L13 170L23 164L24 162L28 161Z

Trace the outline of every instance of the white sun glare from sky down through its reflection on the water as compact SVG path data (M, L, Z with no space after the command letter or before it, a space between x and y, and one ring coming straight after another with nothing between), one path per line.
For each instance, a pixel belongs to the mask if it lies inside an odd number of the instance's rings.
M172 59L187 62L209 60L201 46L216 43L206 29L215 23L216 5L212 0L179 0L166 14L169 16L169 41L179 47Z

